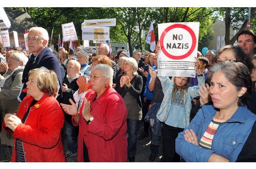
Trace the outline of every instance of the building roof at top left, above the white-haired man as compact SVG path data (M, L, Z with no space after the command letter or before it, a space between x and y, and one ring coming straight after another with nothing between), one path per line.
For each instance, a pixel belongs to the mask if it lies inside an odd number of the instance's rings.
M5 12L11 22L11 27L8 29L9 33L17 31L18 34L24 34L25 29L36 26L31 16L25 11L5 8Z

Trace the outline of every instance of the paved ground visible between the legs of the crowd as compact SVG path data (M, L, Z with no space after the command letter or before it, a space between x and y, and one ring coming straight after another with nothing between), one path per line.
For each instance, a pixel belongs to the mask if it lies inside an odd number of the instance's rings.
M140 126L138 134L143 131L143 123ZM9 162L9 159L6 158L8 155L7 147L0 146L0 162ZM135 156L135 162L151 162L148 160L150 156L150 136L137 141L137 154ZM159 155L154 162L159 162L161 158L161 145L159 147ZM73 156L67 159L67 162L77 162L77 156Z

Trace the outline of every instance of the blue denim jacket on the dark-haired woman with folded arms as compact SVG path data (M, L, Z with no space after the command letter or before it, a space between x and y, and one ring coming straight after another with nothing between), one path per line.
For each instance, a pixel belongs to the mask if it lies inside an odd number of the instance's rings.
M213 105L202 106L186 129L193 129L200 142L215 114ZM187 162L208 162L213 153L229 159L230 162L235 162L255 121L256 115L247 107L238 107L232 117L218 127L213 138L212 149L200 148L188 143L184 139L183 131L176 139L176 153Z

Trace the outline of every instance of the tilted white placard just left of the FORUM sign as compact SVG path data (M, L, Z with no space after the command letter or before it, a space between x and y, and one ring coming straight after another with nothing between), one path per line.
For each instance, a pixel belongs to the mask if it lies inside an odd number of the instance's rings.
M76 28L74 28L73 22L62 24L62 36L63 42L78 40Z

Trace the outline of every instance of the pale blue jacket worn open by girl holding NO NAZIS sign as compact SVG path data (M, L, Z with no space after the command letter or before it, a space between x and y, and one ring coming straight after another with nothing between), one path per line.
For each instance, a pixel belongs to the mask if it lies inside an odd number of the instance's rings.
M165 122L167 120L168 114L171 110L171 101L172 100L172 89L174 88L174 83L171 81L171 79L168 76L162 76L158 77L162 84L162 89L164 93L162 104L158 110L157 119L160 122ZM198 85L204 85L205 78L203 76L197 76L198 78ZM185 92L185 107L183 113L184 113L184 119L183 119L183 125L187 127L189 125L189 119L190 119L190 110L192 108L191 100L194 97L199 96L198 94L199 87L193 86L189 87L188 91ZM176 126L173 126L176 127ZM185 128L184 127L184 128Z

